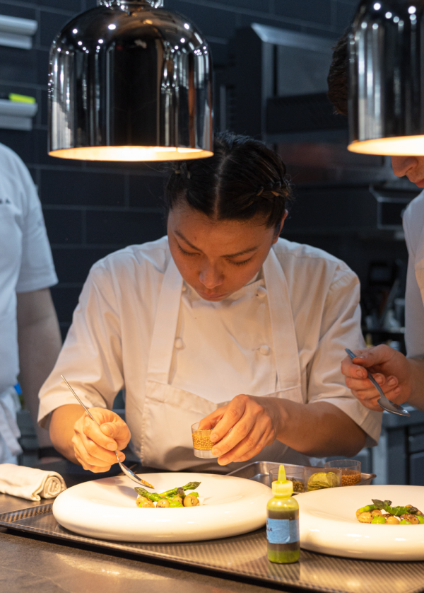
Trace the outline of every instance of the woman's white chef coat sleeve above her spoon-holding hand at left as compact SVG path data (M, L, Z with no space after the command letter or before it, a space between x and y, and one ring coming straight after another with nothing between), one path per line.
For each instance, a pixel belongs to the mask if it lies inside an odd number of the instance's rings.
M42 427L49 424L53 410L76 403L61 374L88 408L111 410L124 386L119 307L105 260L90 270L57 363L40 390Z

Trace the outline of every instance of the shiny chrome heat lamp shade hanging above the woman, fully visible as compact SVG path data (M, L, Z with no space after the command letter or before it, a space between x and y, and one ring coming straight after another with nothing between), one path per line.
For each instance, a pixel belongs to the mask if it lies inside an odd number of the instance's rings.
M211 156L212 62L199 30L143 0L100 0L69 21L50 50L49 154Z

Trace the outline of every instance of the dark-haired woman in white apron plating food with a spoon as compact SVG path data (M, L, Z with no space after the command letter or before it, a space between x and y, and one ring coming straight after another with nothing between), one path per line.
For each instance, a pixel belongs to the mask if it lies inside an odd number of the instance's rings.
M376 444L381 415L340 371L343 348L363 345L358 279L331 255L278 238L284 175L261 142L221 134L213 157L170 176L167 237L93 266L40 391L40 424L68 459L106 471L131 437L144 466L199 467L190 426L201 419L219 420L220 466L309 464ZM126 424L111 411L123 388Z

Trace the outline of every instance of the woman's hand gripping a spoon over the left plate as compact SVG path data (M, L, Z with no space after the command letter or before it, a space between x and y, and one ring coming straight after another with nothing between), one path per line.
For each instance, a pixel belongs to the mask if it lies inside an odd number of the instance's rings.
M110 466L119 461L124 461L124 449L131 439L131 432L124 420L112 410L104 408L90 408L90 413L98 421L100 427L91 420L87 413L73 425L73 451L76 459L84 469L95 473L108 471Z

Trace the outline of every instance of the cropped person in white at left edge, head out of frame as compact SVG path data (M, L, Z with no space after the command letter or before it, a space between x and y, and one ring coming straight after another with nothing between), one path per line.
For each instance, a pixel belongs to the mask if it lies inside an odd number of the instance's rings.
M0 463L16 463L14 386L37 427L38 391L61 347L49 287L57 283L37 190L28 169L0 144ZM40 447L51 447L37 427Z

